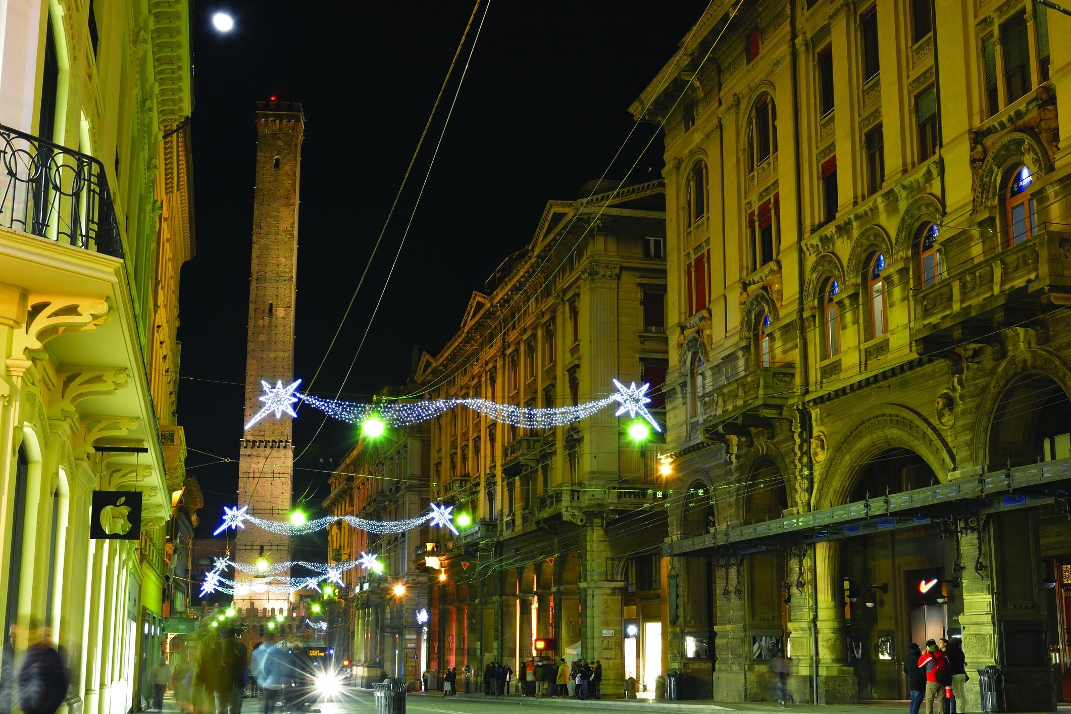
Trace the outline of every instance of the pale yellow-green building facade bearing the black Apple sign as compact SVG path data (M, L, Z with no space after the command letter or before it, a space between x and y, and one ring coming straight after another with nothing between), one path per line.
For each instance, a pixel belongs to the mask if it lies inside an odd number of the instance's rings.
M47 625L67 653L64 711L137 710L165 639L185 483L188 3L29 0L0 15L4 644L17 624L20 656ZM90 538L101 490L140 492L134 540Z

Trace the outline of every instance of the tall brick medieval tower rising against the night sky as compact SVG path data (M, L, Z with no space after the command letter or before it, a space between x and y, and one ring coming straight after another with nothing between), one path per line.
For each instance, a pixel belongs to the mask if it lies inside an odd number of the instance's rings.
M257 103L256 196L253 202L253 260L245 354L245 417L265 406L261 380L293 381L293 317L298 272L298 196L304 115L300 104ZM238 504L261 518L285 520L290 512L293 444L290 419L274 414L244 434L239 458ZM290 538L250 526L236 534L235 559L290 560ZM289 571L280 573L288 576ZM254 576L236 574L236 579ZM285 608L288 595L236 593L240 607Z

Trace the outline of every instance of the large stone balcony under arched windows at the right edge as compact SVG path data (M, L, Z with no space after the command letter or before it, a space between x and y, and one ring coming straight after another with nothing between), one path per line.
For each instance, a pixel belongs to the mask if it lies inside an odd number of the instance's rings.
M915 336L920 354L981 340L996 325L1023 324L1071 304L1071 225L1045 223L1012 247L969 264L915 294Z

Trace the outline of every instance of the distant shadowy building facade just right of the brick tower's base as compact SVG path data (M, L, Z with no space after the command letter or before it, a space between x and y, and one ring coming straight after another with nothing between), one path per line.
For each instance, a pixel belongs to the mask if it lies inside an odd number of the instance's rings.
M401 394L401 392L398 392ZM392 396L390 392L387 396ZM392 427L378 439L362 437L329 483L323 507L335 516L372 520L416 518L428 510L427 425ZM382 572L356 567L343 574L341 607L329 623L335 662L349 659L358 686L396 677L420 690L427 662L427 525L405 533L376 534L341 522L328 533L331 562L374 553Z

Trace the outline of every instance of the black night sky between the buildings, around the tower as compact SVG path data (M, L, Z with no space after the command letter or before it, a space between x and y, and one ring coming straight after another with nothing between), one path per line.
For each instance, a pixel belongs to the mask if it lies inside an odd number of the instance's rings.
M224 0L225 1L225 0ZM436 353L472 290L526 245L547 200L572 199L633 127L628 107L673 57L706 1L665 5L493 0L394 275L383 288L476 25L368 278L312 392L366 399L405 381L414 345ZM330 12L327 9L330 7ZM235 16L220 35L216 11ZM198 2L193 112L196 257L182 272L179 423L205 490L202 533L236 500L242 432L253 212L255 103L301 102L296 377L307 386L357 287L472 12L466 2ZM640 125L612 179L625 178L655 127ZM662 137L632 179L660 174ZM352 427L312 409L295 422L295 498L319 507ZM196 450L196 451L195 451ZM222 462L213 456L235 459ZM310 536L311 538L311 536ZM315 540L302 547L322 552ZM298 553L311 557L313 553Z

